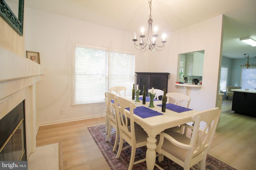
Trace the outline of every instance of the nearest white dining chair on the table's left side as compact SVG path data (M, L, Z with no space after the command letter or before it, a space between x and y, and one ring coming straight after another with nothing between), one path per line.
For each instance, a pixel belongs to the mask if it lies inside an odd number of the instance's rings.
M119 158L121 151L126 149L123 147L124 140L130 145L128 147L132 147L131 158L128 170L132 170L134 164L138 164L140 162L144 162L146 158L138 160L134 162L136 148L146 146L148 134L138 125L134 124L134 109L136 105L125 98L116 96L114 99L115 111L117 114L118 127L120 132L120 140L118 152L116 154L116 158ZM128 126L127 122L127 110L126 108L130 108L130 126Z

